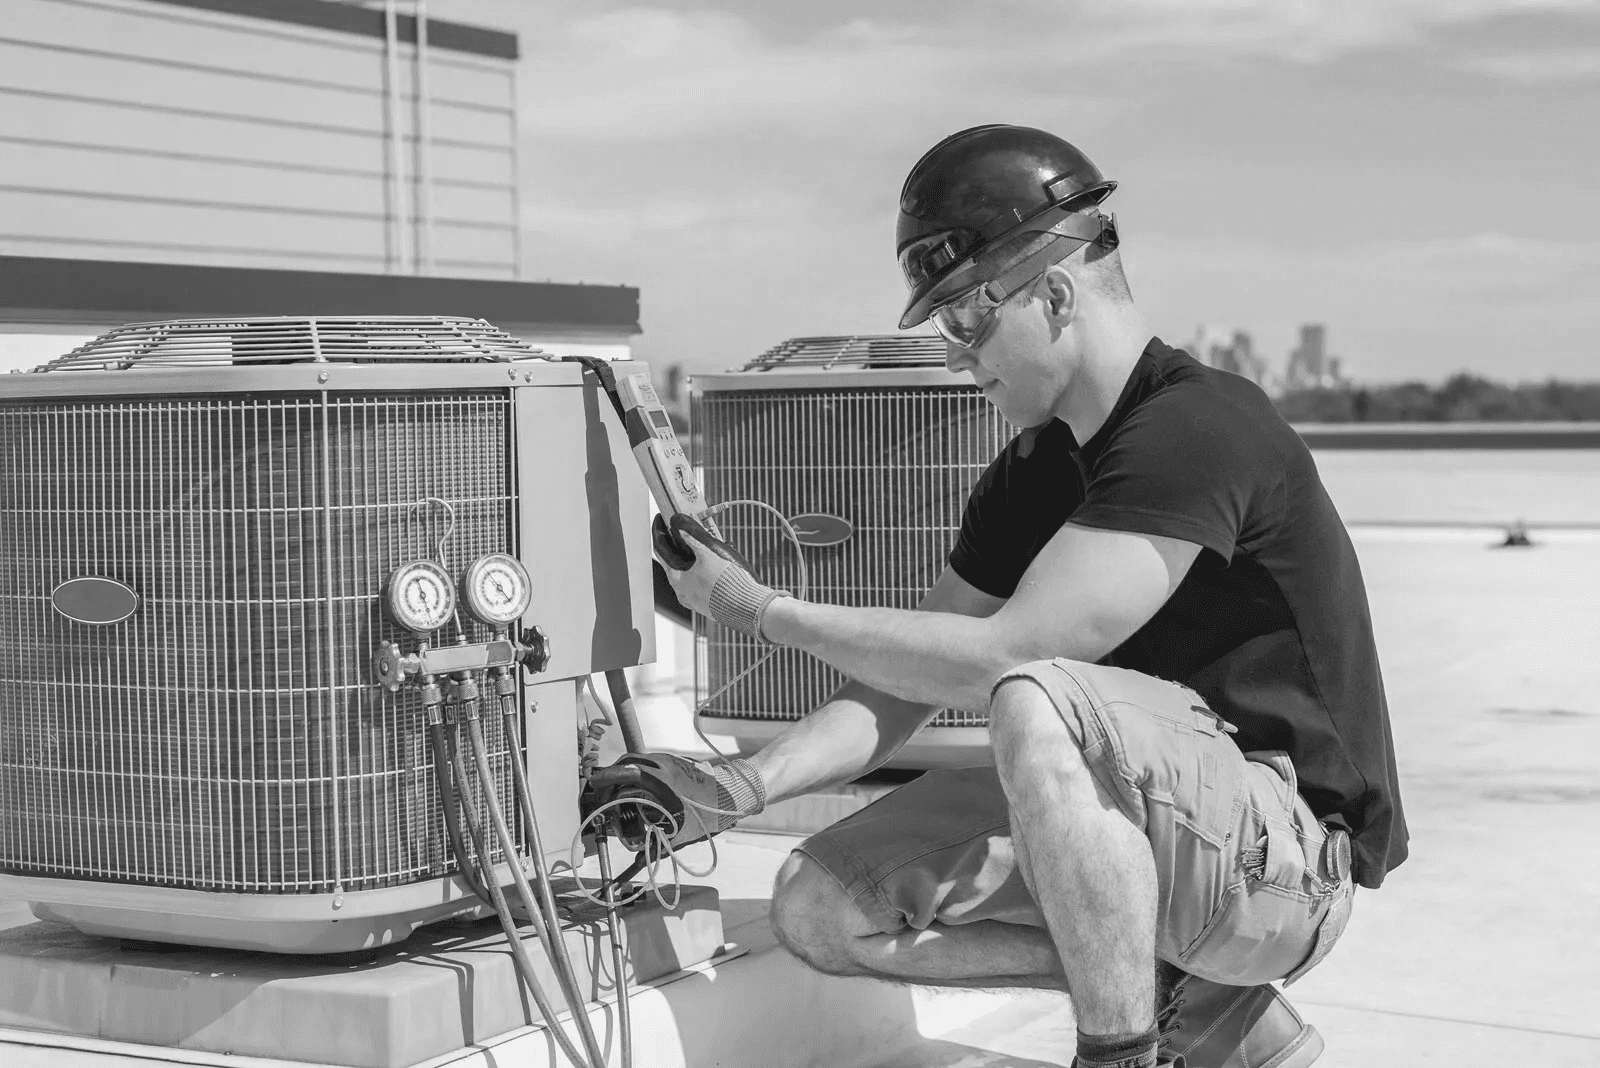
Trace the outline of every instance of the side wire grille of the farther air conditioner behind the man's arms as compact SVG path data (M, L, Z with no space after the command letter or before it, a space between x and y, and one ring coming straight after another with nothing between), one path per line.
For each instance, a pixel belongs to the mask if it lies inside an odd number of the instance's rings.
M768 385L752 376L752 387ZM1016 432L976 389L750 389L696 393L709 500L765 500L786 516L824 512L854 526L806 548L814 601L915 608L944 569L978 476ZM730 508L728 539L762 579L795 588L794 547L770 516ZM797 649L776 652L696 617L694 681L707 713L798 719L845 676ZM770 659L765 659L773 654ZM984 726L946 708L934 726Z

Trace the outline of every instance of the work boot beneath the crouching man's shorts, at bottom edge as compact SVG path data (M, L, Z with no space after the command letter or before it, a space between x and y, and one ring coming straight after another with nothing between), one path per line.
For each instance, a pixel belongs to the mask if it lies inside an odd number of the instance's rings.
M1270 983L1224 986L1162 962L1157 978L1162 1052L1187 1068L1306 1068L1322 1034Z

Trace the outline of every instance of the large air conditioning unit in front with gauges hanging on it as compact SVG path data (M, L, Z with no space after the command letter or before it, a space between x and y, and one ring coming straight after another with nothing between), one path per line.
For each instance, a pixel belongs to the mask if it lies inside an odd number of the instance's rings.
M520 620L458 608L430 641L502 664L547 635L523 735L483 731L501 807L526 761L565 857L578 681L653 659L648 497L603 412L578 365L464 318L142 323L0 377L0 897L304 953L485 915L422 691L379 683L424 646L382 608L397 568L442 568L403 592L429 611L496 553L531 572Z

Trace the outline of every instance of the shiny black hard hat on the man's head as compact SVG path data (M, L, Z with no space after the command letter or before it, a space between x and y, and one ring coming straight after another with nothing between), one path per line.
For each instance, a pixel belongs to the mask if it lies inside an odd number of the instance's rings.
M1030 126L973 126L933 145L901 189L894 253L910 286L901 329L926 320L936 294L1016 269L984 257L1024 232L1115 248L1115 222L1094 211L1114 189L1078 149Z

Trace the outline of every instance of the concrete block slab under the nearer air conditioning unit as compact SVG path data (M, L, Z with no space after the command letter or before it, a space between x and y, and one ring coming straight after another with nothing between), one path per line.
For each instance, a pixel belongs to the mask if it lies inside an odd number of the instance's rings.
M720 951L717 905L717 891L683 887L672 911L654 899L622 910L627 982ZM589 999L616 991L602 915L576 903L563 929ZM560 1009L531 929L525 943ZM538 1022L525 999L494 921L438 924L400 946L331 958L118 942L50 923L0 932L0 1026L157 1047L405 1068Z

